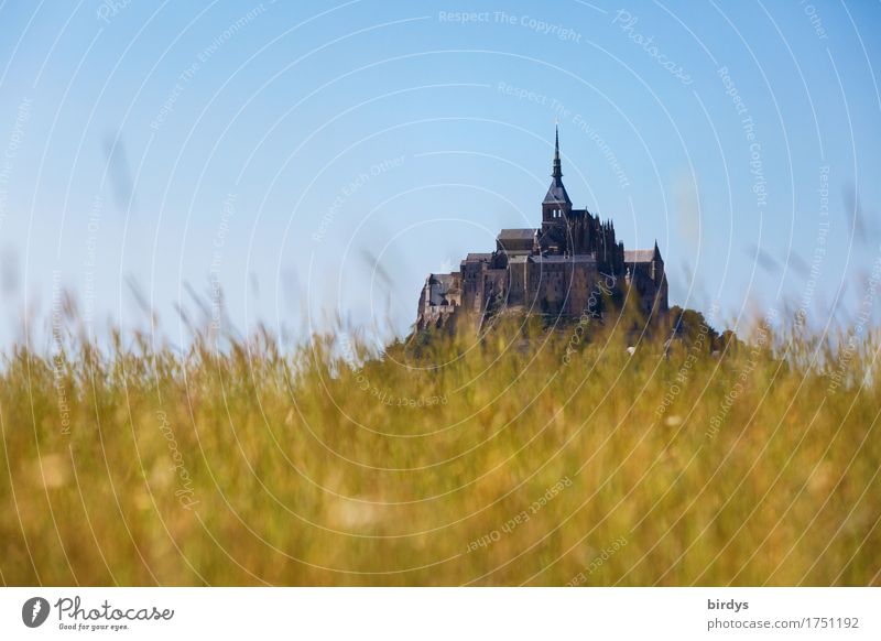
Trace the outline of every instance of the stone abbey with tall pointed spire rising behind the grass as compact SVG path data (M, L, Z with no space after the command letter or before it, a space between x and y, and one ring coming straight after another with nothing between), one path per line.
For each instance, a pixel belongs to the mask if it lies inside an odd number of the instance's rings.
M555 134L551 187L542 202L542 226L502 229L496 251L469 253L459 271L428 274L416 328L468 318L477 327L505 313L602 317L602 300L633 300L646 318L667 312L664 260L657 249L626 250L614 225L587 209L573 209Z

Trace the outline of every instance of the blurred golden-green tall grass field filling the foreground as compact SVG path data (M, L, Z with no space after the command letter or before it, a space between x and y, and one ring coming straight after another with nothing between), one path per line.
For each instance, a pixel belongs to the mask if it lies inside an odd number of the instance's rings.
M696 332L15 349L2 582L881 585L879 335Z

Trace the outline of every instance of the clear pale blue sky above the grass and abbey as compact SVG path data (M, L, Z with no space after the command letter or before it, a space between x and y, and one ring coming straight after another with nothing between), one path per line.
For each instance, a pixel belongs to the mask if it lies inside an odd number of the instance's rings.
M500 9L503 7L503 9ZM468 12L463 15L463 12ZM576 206L671 303L857 312L881 256L878 2L3 2L6 319L403 333L431 271ZM828 203L819 189L828 185ZM828 209L826 209L828 206ZM758 256L758 258L757 258ZM374 269L376 268L376 269ZM813 269L813 276L812 276ZM57 295L56 295L57 300Z

